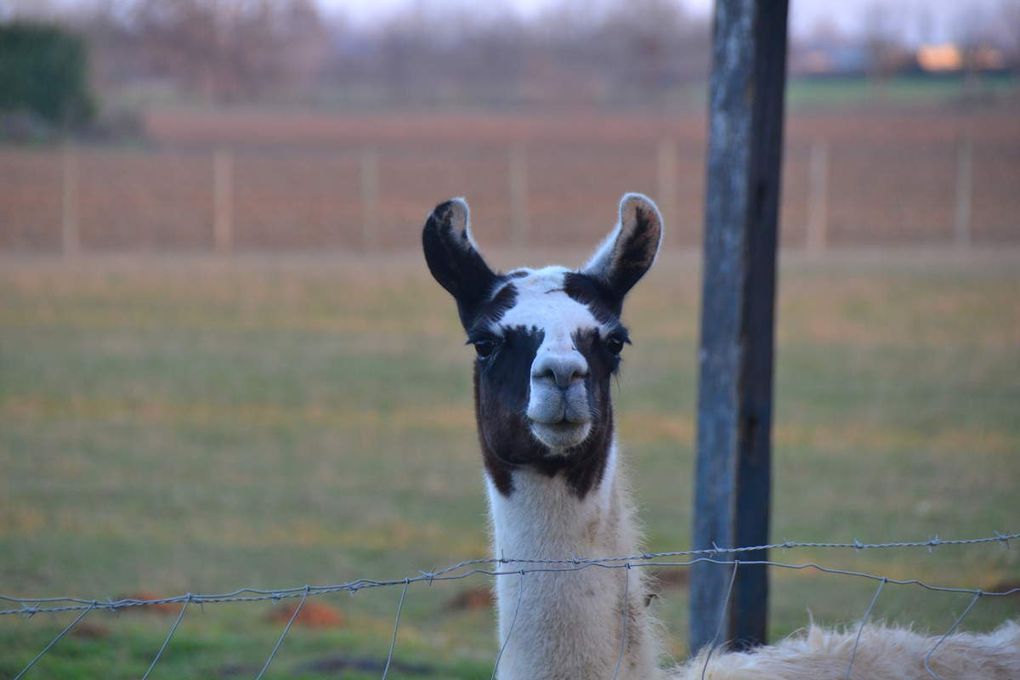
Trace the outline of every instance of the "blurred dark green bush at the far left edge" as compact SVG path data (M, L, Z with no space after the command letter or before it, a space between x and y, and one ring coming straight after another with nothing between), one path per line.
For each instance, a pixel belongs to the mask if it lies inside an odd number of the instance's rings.
M88 74L89 53L76 35L44 23L0 24L0 110L87 122L96 108Z

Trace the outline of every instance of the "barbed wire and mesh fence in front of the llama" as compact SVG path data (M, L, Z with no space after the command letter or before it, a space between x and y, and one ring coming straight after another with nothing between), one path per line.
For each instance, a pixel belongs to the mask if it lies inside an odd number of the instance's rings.
M260 680L265 676L266 672L269 670L270 665L279 652L284 640L287 638L288 633L290 633L292 626L298 619L305 603L309 597L315 597L319 595L337 593L337 592L347 592L354 594L360 590L366 590L370 588L401 588L400 598L397 604L396 616L393 624L393 633L390 640L389 650L387 652L386 664L382 669L382 680L386 680L389 675L390 668L393 662L394 651L397 648L401 615L404 610L404 601L407 597L408 591L412 585L415 584L426 584L431 585L436 582L445 581L459 581L467 579L473 576L488 576L493 578L508 578L517 577L520 579L520 587L517 589L517 600L514 609L513 616L511 618L510 626L507 630L507 635L501 641L499 651L496 656L496 660L493 667L493 675L495 678L499 670L500 660L503 657L503 652L509 644L511 638L513 637L513 629L516 625L518 615L520 614L520 606L522 594L526 585L526 578L531 574L564 574L569 575L571 573L577 573L588 569L620 569L620 570L630 570L630 569L644 569L644 568L687 568L699 563L710 563L721 566L729 566L731 568L729 588L727 588L726 595L719 604L720 608L725 609L729 605L729 598L732 594L732 583L735 579L737 570L742 566L752 566L752 565L764 565L776 569L786 569L793 571L817 571L823 574L845 576L858 579L865 579L874 581L877 583L874 594L872 595L867 609L861 617L858 624L857 635L855 638L854 647L851 650L849 663L847 667L846 678L851 677L851 672L853 670L854 662L857 657L858 645L860 644L861 632L863 631L865 625L869 621L872 612L874 611L875 605L879 599L883 589L887 585L899 585L899 586L914 586L921 588L930 592L950 592L958 594L969 594L971 598L968 605L960 613L959 616L954 620L953 624L945 631L945 633L938 637L934 644L928 649L924 658L924 668L928 675L933 680L939 680L939 676L932 670L930 661L941 644L952 636L963 623L964 619L974 610L978 601L982 597L1005 597L1009 595L1014 595L1020 593L1020 586L1011 587L1005 590L985 590L980 587L968 587L968 586L950 586L950 585L939 585L928 583L916 578L892 578L889 576L883 576L880 574L874 574L864 571L856 571L849 569L839 569L837 567L824 566L817 562L780 562L774 560L741 560L737 556L745 553L754 553L759 551L793 551L793 550L819 550L819 551L892 551L892 550L910 550L910 548L926 548L928 552L933 552L937 547L941 546L974 546L980 544L991 544L998 543L1004 550L1011 550L1011 541L1020 539L1020 532L1012 533L1001 533L996 532L992 535L981 536L977 538L956 538L956 539L945 539L939 538L937 535L932 536L923 540L908 540L908 541L888 541L888 542L876 542L868 543L861 542L859 540L854 540L853 542L818 542L818 541L795 541L795 540L784 540L778 543L770 543L767 545L753 545L753 546L742 546L742 547L719 547L713 546L707 550L686 550L686 551L668 551L659 553L641 553L635 555L626 556L610 556L602 558L564 558L556 560L536 560L536 559L513 559L513 558L488 558L488 559L474 559L474 560L464 560L456 564L450 565L443 569L435 571L418 571L414 576L407 576L404 578L395 579L366 579L360 578L353 581L347 581L345 583L334 583L325 585L310 585L305 584L301 586L294 586L288 588L278 589L262 589L262 588L239 588L231 592L216 593L216 594L201 594L188 592L182 595L175 595L172 597L160 597L153 599L135 599L135 598L123 598L123 599L89 599L85 597L74 597L74 596L59 596L59 597L21 597L12 595L0 594L0 603L6 604L6 609L0 610L0 617L34 617L37 615L58 615L65 613L76 613L74 619L71 620L64 628L62 628L29 663L13 677L13 680L20 680L23 678L32 669L42 660L53 647L69 632L71 632L82 621L97 611L107 611L107 612L118 612L121 610L129 610L133 608L145 608L145 607L157 607L157 606L172 606L180 605L181 609L177 612L176 617L170 624L169 629L165 637L163 638L162 644L156 651L152 659L148 669L142 676L142 680L147 680L152 674L153 669L156 668L160 659L162 659L163 653L166 651L170 644L174 634L180 629L182 622L185 619L185 614L192 605L218 605L226 603L259 603L259 601L280 601L284 599L299 599L298 605L295 607L293 613L291 614L287 624L280 631L279 636L276 638L268 657L261 666L258 674L255 676L256 680ZM629 579L625 579L626 584ZM624 597L626 592L624 592ZM614 680L619 676L620 666L625 652L625 641L626 641L626 608L622 608L621 616L621 642L620 650L617 659L616 670L614 673ZM720 637L717 631L716 637L712 641L712 648L708 655L706 655L704 661L703 675L708 668L709 661L712 657L712 651L719 645ZM724 642L724 641L723 641Z

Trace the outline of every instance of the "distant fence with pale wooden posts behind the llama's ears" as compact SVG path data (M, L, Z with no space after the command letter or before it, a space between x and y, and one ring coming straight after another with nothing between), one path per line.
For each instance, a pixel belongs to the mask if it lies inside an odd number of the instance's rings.
M782 243L1020 243L1020 141L792 139ZM704 147L683 138L304 149L0 149L0 251L407 251L463 195L493 245L588 245L626 191L700 244Z

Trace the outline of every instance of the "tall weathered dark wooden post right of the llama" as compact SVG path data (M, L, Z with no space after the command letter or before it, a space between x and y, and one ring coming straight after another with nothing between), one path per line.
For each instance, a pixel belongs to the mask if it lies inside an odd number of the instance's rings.
M709 95L699 351L696 548L768 540L772 344L787 0L717 0ZM721 555L767 559L765 551ZM765 641L763 565L702 562L691 649Z

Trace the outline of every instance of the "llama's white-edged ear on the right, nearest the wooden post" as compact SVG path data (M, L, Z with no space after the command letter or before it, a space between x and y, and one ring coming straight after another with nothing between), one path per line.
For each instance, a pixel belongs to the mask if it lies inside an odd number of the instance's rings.
M581 270L605 284L620 300L655 262L662 242L662 215L652 199L624 194L620 221Z

